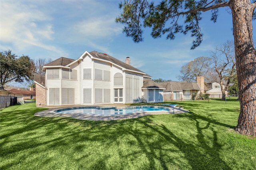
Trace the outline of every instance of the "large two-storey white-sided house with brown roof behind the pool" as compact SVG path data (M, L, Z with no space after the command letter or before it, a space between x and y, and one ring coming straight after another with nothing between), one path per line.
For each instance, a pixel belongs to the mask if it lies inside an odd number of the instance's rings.
M97 105L163 102L163 89L144 86L152 78L145 72L106 53L85 51L77 60L61 57L36 75L36 105ZM147 80L147 81L148 81ZM143 88L142 88L143 87Z

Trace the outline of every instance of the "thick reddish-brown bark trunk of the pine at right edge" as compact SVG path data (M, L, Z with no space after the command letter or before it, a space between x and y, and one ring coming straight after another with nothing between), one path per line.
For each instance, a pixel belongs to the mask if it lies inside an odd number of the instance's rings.
M252 14L255 4L250 0L232 0L236 69L239 87L240 114L235 130L256 136L256 51L252 41Z

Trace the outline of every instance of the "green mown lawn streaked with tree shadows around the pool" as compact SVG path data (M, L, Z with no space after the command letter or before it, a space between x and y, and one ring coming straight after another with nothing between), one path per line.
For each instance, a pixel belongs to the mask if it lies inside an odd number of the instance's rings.
M175 104L190 112L84 121L36 117L35 103L7 107L0 169L256 169L256 139L233 130L238 104Z

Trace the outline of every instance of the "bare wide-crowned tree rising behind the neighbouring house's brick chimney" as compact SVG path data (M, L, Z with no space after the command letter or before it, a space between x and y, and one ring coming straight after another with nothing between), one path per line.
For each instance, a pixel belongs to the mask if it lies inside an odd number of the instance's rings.
M210 61L209 57L197 57L181 67L178 79L186 82L195 82L197 76L204 76L206 82L210 82L208 78Z

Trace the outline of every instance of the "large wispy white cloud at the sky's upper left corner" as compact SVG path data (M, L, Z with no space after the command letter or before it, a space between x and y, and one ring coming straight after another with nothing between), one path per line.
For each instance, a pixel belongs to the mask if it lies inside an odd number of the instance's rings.
M11 43L16 52L36 46L61 53L48 42L54 39L51 20L30 2L2 1L1 43Z

